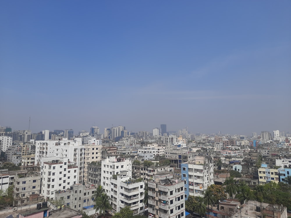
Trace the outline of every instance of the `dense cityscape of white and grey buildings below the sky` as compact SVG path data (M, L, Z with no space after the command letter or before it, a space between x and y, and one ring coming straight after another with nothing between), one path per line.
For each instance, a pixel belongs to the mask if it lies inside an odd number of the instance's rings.
M119 217L129 210L156 218L287 217L290 140L288 131L193 134L188 127L169 132L166 124L136 133L92 126L77 134L0 126L0 206L3 215L22 216L66 210Z

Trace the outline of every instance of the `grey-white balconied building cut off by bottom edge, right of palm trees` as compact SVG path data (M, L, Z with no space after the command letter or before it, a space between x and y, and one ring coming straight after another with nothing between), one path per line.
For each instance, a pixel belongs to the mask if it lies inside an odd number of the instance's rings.
M169 173L156 174L148 181L148 217L185 217L184 181L173 180Z

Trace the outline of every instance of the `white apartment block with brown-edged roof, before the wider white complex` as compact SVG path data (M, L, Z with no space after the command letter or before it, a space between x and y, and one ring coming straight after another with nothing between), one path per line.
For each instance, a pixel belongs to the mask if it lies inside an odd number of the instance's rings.
M55 192L70 190L70 186L78 183L78 166L70 163L68 158L44 159L47 160L41 163L41 194L45 199L54 199Z

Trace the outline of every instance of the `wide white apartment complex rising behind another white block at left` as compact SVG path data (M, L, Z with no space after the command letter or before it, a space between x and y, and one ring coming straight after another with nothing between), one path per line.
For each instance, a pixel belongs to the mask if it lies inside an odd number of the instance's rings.
M43 157L68 158L78 166L78 182L83 183L84 146L81 138L36 141L35 165L40 163Z

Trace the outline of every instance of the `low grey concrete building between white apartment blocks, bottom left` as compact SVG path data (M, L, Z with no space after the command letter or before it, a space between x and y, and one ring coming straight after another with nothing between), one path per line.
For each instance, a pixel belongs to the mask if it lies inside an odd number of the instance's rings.
M75 184L67 190L55 192L54 200L63 200L64 205L81 211L84 207L94 205L95 185Z

